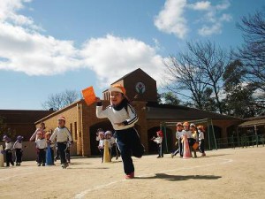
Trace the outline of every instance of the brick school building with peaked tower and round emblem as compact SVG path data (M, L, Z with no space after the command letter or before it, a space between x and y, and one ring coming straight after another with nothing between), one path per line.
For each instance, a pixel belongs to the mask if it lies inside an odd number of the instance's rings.
M201 111L182 105L173 106L157 103L156 81L140 68L132 73L113 82L126 88L126 94L133 99L133 106L139 115L139 121L135 128L140 134L140 140L146 148L147 153L156 152L156 145L150 139L155 132L160 129L163 122L190 121L196 119L212 119L216 138L226 138L234 126L241 123L241 119L225 116L209 111ZM102 92L102 102L104 106L110 104L110 95L108 90ZM66 126L72 132L74 142L76 142L76 151L78 156L89 157L98 155L97 142L95 141L96 130L112 130L108 119L97 119L95 116L95 104L87 106L84 100L72 103L62 110L52 112L46 117L35 122L39 126L45 122L47 129L57 127L57 118L64 116ZM176 142L175 126L167 126L168 148L173 149Z

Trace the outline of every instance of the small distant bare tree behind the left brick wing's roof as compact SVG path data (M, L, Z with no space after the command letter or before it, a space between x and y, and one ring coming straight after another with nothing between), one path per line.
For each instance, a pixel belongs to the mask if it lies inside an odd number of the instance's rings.
M55 111L64 108L65 106L74 103L79 99L79 93L76 90L64 90L61 93L51 94L48 100L42 103L44 109L53 109Z

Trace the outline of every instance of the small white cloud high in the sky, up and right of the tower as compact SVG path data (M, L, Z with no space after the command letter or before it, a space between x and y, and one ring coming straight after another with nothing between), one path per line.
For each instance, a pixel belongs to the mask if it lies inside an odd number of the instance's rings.
M185 7L186 0L167 0L163 10L155 16L155 27L184 39L188 32L186 18L183 16Z

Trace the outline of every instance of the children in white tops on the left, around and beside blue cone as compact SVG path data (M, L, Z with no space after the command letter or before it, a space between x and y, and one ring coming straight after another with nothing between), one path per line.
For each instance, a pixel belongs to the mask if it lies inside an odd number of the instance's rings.
M58 127L54 130L53 134L51 131L45 131L45 124L42 123L39 128L36 129L34 134L31 136L30 141L35 142L35 149L37 152L37 165L45 166L47 149L49 149L50 165L55 165L54 161L57 157L60 157L61 166L66 168L70 163L70 147L72 144L72 135L67 127L65 127L65 118L58 118ZM15 150L16 154L16 165L20 165L22 162L22 136L17 137L17 141L12 144L11 138L4 135L3 141L5 142L4 151L1 151L6 158L6 166L14 165L12 153ZM54 148L57 149L57 157L54 157Z

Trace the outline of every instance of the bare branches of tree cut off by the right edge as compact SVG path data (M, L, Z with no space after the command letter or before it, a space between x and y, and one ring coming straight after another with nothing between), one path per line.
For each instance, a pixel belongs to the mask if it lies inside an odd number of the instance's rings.
M244 44L236 55L244 64L246 81L265 97L265 7L243 17L238 27L243 32Z

